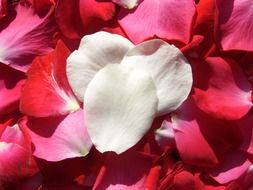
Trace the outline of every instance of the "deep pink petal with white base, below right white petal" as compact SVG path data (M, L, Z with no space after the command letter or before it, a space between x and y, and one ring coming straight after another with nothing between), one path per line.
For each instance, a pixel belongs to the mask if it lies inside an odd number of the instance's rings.
M184 162L201 167L213 167L218 164L218 158L202 134L201 127L208 127L207 123L203 125L205 118L202 114L192 99L188 99L178 114L172 117L176 146Z

